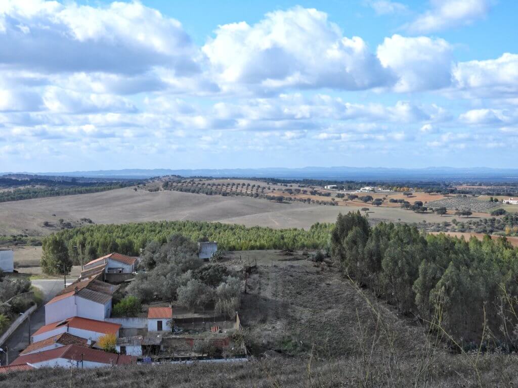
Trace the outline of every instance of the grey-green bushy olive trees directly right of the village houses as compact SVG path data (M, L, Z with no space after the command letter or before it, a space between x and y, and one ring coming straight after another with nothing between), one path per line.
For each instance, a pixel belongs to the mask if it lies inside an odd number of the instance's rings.
M217 314L232 317L240 303L241 280L221 264L204 264L196 249L196 243L179 234L171 235L164 244L149 243L142 259L147 271L137 274L127 287L130 296L114 312L127 314L130 307L126 306L140 308L136 301L159 299L177 300L192 311L212 304Z

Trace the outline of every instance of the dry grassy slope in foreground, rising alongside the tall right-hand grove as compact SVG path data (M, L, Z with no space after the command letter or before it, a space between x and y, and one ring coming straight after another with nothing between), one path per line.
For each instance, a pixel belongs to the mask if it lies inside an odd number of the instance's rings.
M451 355L438 347L431 357L420 326L378 303L368 291L356 289L333 268L321 270L275 251L235 252L227 265L239 268L256 259L259 274L249 280L241 318L261 360L244 365L41 369L0 375L0 386L81 387L94 381L103 387L149 388L425 386L424 380L426 386L518 383L516 356L481 356L478 374L474 356Z

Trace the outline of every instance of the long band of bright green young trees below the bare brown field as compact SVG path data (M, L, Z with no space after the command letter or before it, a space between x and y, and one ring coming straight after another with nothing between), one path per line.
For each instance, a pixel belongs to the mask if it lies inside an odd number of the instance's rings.
M79 264L81 259L85 263L111 252L138 256L149 242L163 244L171 234L181 234L193 241L217 241L224 250L322 248L332 227L328 223L315 223L309 230L246 228L202 221L88 225L45 237L41 266L44 272L54 273L57 267L68 268L71 263Z

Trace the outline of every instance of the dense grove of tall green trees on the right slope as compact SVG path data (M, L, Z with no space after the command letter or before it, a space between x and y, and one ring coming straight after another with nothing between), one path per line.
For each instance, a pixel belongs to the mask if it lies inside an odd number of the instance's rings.
M357 282L467 348L484 332L493 346L517 349L518 249L505 238L465 241L384 222L370 228L357 212L339 215L331 250Z

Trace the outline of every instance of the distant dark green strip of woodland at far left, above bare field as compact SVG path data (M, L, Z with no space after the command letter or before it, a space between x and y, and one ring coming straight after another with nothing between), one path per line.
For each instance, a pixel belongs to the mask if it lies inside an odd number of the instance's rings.
M0 191L0 202L20 201L24 199L71 196L91 192L107 191L126 187L129 183L106 184L98 186L77 187L30 187Z

